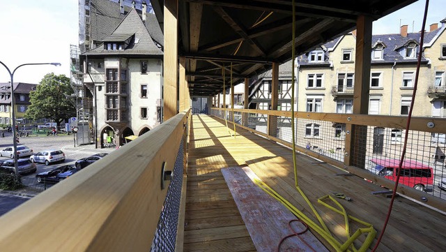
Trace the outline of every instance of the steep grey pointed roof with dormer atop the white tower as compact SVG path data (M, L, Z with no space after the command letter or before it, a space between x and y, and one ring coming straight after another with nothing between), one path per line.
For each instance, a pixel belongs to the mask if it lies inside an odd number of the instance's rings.
M112 31L109 36L102 39L105 43L107 42L122 42L134 36L130 41L130 44L123 48L123 50L106 50L104 44L93 48L83 55L144 55L144 56L161 56L162 51L153 42L151 36L139 17L135 9L130 10L130 12L124 17L120 24Z

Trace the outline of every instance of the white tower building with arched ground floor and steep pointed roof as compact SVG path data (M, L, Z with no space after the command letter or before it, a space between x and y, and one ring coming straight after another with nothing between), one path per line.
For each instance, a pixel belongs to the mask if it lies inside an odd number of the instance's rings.
M162 121L162 49L132 9L100 45L81 54L84 85L102 147L150 131Z

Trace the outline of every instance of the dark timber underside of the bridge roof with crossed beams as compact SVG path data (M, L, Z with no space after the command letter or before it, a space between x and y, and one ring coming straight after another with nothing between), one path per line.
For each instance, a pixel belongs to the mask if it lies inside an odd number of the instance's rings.
M327 43L355 29L357 17L365 15L376 20L416 0L296 0L296 55ZM164 1L153 0L158 20ZM178 5L180 36L178 54L185 56L188 80L223 82L222 77L206 78L203 74L222 75L224 65L229 83L233 63L235 81L259 75L271 68L272 62L291 59L291 0L187 0ZM190 61L192 62L192 61ZM191 76L194 73L201 76ZM201 91L194 87L192 96L213 96L222 91L212 86Z

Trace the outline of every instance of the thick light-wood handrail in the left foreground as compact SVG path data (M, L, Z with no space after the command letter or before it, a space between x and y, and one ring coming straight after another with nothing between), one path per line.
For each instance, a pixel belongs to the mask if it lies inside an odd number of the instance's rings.
M1 216L1 251L148 251L187 113Z

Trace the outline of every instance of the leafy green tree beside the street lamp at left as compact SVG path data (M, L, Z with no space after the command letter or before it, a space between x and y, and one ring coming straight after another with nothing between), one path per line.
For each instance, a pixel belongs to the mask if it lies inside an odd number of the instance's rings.
M49 118L56 121L57 128L60 128L63 120L76 116L75 102L67 98L73 93L70 78L48 73L37 85L36 90L30 92L31 105L24 117L32 120Z

